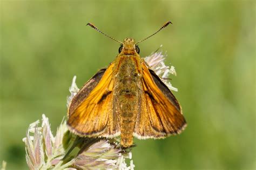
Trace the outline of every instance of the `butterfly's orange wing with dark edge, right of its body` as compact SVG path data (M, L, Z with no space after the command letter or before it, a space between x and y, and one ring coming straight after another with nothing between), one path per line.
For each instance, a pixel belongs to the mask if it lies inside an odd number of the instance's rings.
M133 135L157 139L180 133L186 121L177 99L146 63L142 67L143 96Z

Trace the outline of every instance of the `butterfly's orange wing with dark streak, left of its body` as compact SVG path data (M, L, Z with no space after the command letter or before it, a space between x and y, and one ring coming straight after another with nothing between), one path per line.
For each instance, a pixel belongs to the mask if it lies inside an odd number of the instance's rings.
M113 113L113 66L105 72L99 71L72 99L68 126L73 133L83 137L120 134L117 116Z

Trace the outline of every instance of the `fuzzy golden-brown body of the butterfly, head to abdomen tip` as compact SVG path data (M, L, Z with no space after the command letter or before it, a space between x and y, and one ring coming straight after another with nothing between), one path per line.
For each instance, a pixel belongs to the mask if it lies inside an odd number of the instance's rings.
M131 146L142 94L142 59L132 47L134 40L124 40L123 50L114 61L114 105L120 121L121 145Z

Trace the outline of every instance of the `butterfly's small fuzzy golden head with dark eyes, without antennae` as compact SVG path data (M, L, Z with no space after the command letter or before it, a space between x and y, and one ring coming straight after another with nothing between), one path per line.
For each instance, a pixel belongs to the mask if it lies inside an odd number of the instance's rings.
M124 43L122 43L118 50L119 53L124 54L134 54L139 53L139 47L136 45L135 40L132 38L125 38Z

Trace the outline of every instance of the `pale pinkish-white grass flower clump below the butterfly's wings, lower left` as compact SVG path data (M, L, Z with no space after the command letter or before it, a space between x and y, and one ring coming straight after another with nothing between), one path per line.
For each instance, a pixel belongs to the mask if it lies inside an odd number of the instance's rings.
M26 162L30 169L131 169L125 158L131 158L131 152L120 148L118 141L105 138L80 138L69 133L66 121L62 121L56 136L51 133L49 119L43 114L42 125L39 120L30 124L23 138L26 150ZM78 147L75 155L68 154ZM65 162L65 164L63 164Z

